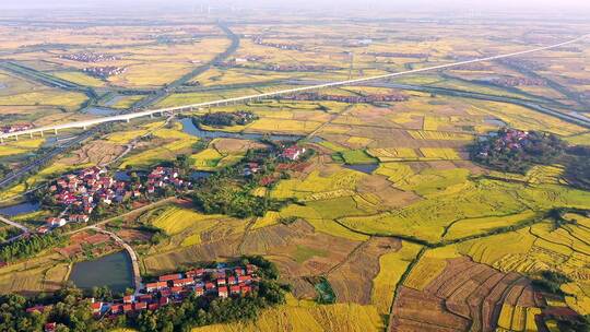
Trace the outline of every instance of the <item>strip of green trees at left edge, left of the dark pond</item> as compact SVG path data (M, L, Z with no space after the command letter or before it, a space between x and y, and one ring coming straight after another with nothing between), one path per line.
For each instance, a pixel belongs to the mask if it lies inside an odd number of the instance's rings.
M33 257L40 251L59 245L63 238L56 233L47 235L32 235L0 247L0 259L4 262Z

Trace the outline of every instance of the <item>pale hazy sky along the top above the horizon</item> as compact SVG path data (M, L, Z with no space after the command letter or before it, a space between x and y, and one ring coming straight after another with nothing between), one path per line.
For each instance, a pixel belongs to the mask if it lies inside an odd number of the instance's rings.
M201 3L237 7L292 8L388 8L399 10L448 9L536 12L540 10L585 13L590 0L0 0L0 8L167 7L192 8Z

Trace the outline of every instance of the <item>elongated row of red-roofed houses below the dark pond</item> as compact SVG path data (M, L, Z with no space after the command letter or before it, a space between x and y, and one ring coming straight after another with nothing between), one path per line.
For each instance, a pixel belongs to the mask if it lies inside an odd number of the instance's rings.
M128 295L118 303L94 301L91 305L95 316L127 315L141 310L156 310L162 306L182 301L191 294L227 298L245 296L252 292L259 277L257 266L247 264L236 268L194 269L185 273L162 275L153 283L146 283L137 295Z

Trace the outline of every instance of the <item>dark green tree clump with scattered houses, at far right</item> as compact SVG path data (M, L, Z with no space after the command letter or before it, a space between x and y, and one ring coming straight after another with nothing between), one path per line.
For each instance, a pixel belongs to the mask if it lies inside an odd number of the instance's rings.
M493 169L524 174L534 164L557 162L566 147L554 134L531 131L521 141L514 141L511 132L500 129L495 137L479 141L471 149L472 158Z

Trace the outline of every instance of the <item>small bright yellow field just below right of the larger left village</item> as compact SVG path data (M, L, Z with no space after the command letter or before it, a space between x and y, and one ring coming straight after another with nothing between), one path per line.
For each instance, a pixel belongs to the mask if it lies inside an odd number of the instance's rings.
M152 224L166 232L168 235L175 235L182 233L190 228L191 230L204 230L215 223L212 222L219 218L219 215L205 215L197 213L192 210L172 206L166 209L162 214L155 218ZM189 241L194 241L192 238Z

